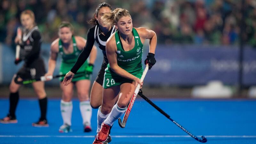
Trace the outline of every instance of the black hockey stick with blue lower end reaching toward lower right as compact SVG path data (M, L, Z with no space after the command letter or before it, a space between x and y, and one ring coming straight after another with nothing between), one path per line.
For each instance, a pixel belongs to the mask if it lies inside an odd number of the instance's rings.
M158 106L156 106L151 100L149 100L146 96L144 96L141 92L138 92L138 94L144 99L146 100L151 106L153 106L154 108L156 108L156 110L158 110L161 114L163 114L165 117L167 117L168 119L170 119L174 124L176 124L178 127L180 127L184 132L186 132L188 135L190 135L192 138L196 139L199 142L207 142L207 139L205 136L201 136L201 138L198 138L197 136L191 134L190 132L188 132L188 130L186 130L183 126L181 126L180 124L178 124L177 122L175 122L168 114L166 114L161 108L159 108Z

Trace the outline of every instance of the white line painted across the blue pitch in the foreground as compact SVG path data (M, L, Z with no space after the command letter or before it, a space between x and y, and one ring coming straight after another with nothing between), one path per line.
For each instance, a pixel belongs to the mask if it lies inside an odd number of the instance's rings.
M94 135L0 135L1 138L94 138ZM189 135L111 135L112 138L190 138ZM199 135L197 137L200 137ZM256 138L256 135L208 135L206 138Z

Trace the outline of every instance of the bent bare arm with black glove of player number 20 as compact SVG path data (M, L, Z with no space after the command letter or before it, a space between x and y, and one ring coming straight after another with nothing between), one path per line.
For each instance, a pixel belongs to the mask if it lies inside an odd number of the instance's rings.
M145 64L148 63L148 69L151 69L152 66L156 63L155 59L155 51L156 51L156 33L147 28L136 28L140 35L140 39L142 43L144 43L145 39L149 39L149 52L147 55L146 60L144 61Z

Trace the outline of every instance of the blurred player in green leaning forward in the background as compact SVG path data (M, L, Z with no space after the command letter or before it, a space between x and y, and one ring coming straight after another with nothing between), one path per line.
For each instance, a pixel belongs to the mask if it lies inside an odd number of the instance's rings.
M77 57L84 49L86 40L81 36L73 36L73 26L69 22L61 22L58 31L59 38L52 42L51 55L49 58L48 72L45 76L52 76L56 67L58 54L61 56L60 74L66 74L73 67ZM72 83L64 86L61 83L63 77L60 77L60 88L62 90L62 99L60 101L61 116L63 125L60 126L59 132L71 131L71 115L72 115L72 95L73 87L76 85L78 99L80 101L80 111L83 118L84 132L90 132L92 107L89 101L89 88L91 85L91 74L94 61L96 59L97 49L93 46L89 64L86 61L73 79Z

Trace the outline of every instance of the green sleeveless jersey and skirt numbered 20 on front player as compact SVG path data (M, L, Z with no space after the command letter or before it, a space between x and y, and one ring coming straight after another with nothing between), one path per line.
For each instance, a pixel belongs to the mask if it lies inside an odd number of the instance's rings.
M142 67L142 53L143 44L140 41L140 36L135 28L132 28L132 34L134 36L135 45L132 50L124 51L122 42L120 40L118 31L115 33L116 47L117 47L117 65L133 76L140 78L143 73ZM105 69L103 88L108 88L115 85L120 85L126 82L132 82L132 80L124 78L113 72L108 64Z

